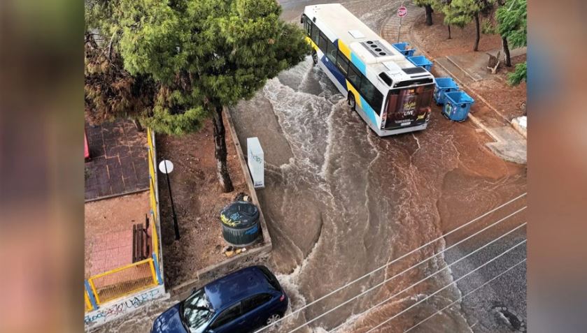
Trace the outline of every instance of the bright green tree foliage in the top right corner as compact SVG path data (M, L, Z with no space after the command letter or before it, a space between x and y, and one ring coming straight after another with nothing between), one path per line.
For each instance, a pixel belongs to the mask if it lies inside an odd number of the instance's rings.
M526 0L507 0L503 6L497 8L495 13L497 31L502 37L507 38L511 47L523 47L528 44L527 17Z

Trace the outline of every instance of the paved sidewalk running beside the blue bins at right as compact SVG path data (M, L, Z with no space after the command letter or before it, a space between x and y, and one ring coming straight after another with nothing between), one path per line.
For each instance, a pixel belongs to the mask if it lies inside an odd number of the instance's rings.
M495 140L495 142L486 144L494 154L506 161L525 164L527 154L526 139L511 125L511 119L509 119L511 118L511 112L503 112L504 108L518 108L518 105L495 105L495 103L488 101L488 91L493 89L496 94L501 94L502 91L493 88L495 86L495 76L483 71L483 63L486 64L488 58L486 52L432 57L418 43L418 38L413 34L414 25L424 20L424 8L419 8L413 3L408 3L405 6L408 10L408 15L402 19L399 40L409 43L411 47L415 47L416 54L423 54L434 61L432 74L435 77L453 77L460 88L476 100L469 113L469 119L482 131L485 131L490 138ZM441 24L439 20L436 21L435 24ZM399 17L392 13L392 16L383 23L380 34L389 43L396 43L398 29ZM487 52L496 54L498 50L492 49ZM512 50L512 57L523 54L525 54L525 49Z

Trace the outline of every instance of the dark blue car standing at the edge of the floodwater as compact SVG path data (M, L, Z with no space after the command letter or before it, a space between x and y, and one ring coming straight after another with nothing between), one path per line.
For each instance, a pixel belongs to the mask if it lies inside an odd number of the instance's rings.
M153 323L152 333L247 333L276 322L288 309L274 274L246 267L195 290Z

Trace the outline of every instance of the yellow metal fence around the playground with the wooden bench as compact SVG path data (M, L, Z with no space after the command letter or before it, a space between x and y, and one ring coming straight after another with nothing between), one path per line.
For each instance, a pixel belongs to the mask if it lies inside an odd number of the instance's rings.
M147 128L148 164L149 164L149 201L150 201L150 237L153 243L153 256L139 262L112 269L108 272L91 276L85 281L85 311L92 311L100 304L125 297L140 290L162 283L159 270L161 260L159 251L159 221L157 220L157 184L155 181L155 147L153 131Z

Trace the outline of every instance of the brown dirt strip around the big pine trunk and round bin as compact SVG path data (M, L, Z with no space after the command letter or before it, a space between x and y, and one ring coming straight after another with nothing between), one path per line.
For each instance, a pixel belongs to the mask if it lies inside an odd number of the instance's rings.
M159 173L164 274L170 288L195 279L198 269L225 258L220 210L238 193L248 192L228 128L226 143L234 185L231 193L222 193L216 177L211 121L206 121L198 133L183 137L157 135L157 160L168 158L174 163L169 176L181 235L175 241L167 181Z

